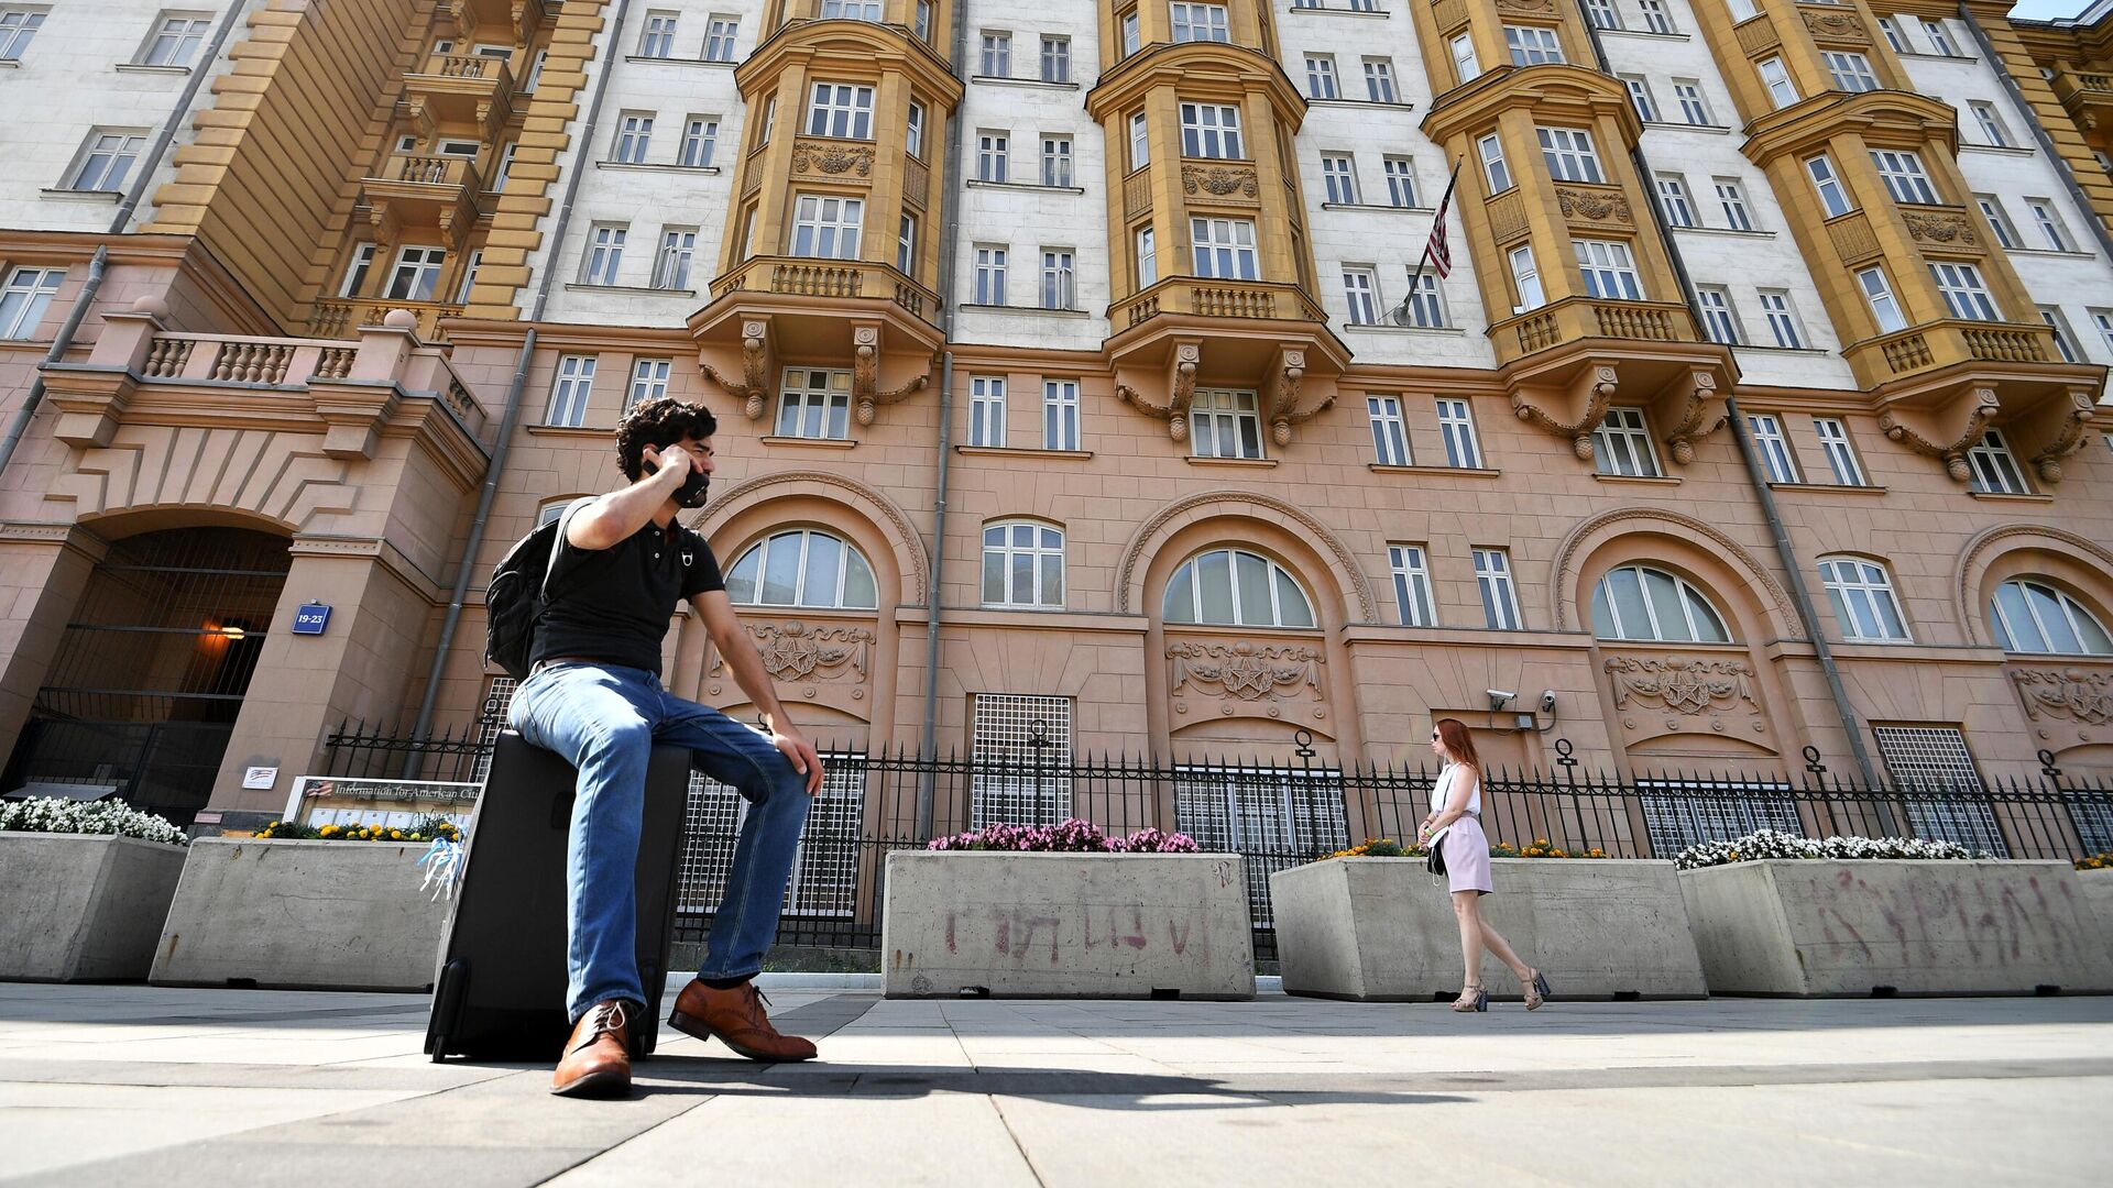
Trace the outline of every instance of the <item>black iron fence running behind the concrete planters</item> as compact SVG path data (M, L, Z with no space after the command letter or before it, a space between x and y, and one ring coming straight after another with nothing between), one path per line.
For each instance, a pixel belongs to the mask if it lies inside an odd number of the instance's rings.
M340 729L330 774L475 780L490 731L410 740ZM1257 955L1276 951L1270 875L1369 837L1414 841L1437 772L1335 767L1302 742L1297 759L1166 761L1071 757L1048 748L921 759L824 748L828 778L809 810L786 888L782 945L879 947L881 877L892 850L991 822L1084 818L1111 835L1181 831L1247 860ZM1570 854L1671 858L1701 841L1779 829L1805 837L1929 837L1999 858L2077 858L2113 850L2113 784L2064 776L1866 786L1811 763L1794 778L1722 772L1581 774L1568 744L1555 772L1490 772L1481 822L1496 846L1547 841ZM412 759L414 763L406 763ZM925 808L928 805L928 808ZM725 890L744 801L704 776L689 788L678 915L704 939ZM919 820L930 816L930 829Z

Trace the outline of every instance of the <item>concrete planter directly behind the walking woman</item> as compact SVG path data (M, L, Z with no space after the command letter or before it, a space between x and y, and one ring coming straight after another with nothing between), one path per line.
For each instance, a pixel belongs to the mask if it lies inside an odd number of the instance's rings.
M1492 858L1483 920L1564 998L1703 998L1671 862ZM1329 858L1270 875L1285 994L1431 1002L1460 994L1460 924L1422 858ZM1490 998L1517 979L1483 953Z

